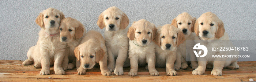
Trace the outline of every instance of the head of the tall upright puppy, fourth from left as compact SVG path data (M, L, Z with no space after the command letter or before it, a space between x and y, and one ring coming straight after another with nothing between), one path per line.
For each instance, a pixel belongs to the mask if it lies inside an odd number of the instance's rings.
M117 7L110 7L99 15L97 25L103 29L106 27L107 31L118 31L125 29L129 24L127 15Z

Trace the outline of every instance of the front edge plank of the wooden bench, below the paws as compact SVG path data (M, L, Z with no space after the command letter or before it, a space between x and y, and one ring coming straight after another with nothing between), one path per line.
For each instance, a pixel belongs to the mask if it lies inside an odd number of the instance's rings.
M30 73L0 73L0 81L249 81L256 80L256 74L223 74L222 76L206 75L178 75L178 76L151 76L138 75L131 77L128 75L122 76L103 76L103 75L39 75Z

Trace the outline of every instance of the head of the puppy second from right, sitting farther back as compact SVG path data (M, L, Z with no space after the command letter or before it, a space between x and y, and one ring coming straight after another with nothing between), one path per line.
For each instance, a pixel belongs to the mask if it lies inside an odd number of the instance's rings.
M185 36L189 36L191 32L194 32L195 21L196 18L184 12L172 20L172 25L181 29Z

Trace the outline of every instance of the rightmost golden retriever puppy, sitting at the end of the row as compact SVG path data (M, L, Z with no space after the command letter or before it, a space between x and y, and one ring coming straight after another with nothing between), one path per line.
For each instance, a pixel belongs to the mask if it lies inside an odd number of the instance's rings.
M200 40L203 40L200 45L206 46L206 48L219 48L220 46L233 46L229 41L229 36L225 32L223 22L212 12L203 13L195 23L195 33L199 36ZM214 58L212 55L239 55L238 51L234 52L221 52L212 51L208 49L208 53L205 57L197 58L198 67L193 70L193 75L202 75L205 72L206 65L213 65L211 75L222 75L223 67L227 69L238 69L237 58ZM202 60L202 61L201 61Z

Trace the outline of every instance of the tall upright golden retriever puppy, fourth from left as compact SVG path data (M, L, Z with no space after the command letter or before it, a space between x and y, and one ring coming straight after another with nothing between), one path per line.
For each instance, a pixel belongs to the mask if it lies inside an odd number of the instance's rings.
M129 49L128 28L125 29L128 24L127 15L117 7L110 7L103 11L97 21L99 28L106 27L104 38L109 55L108 68L116 75L123 75L123 66L129 66L129 61L126 61ZM124 65L125 61L127 63Z

